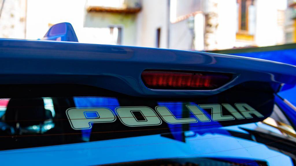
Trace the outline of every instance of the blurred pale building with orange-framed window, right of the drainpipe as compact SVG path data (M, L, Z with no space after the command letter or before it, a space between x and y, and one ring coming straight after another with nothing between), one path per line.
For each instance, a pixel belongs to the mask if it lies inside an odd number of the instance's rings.
M171 38L177 41L187 35L181 43L189 45L192 34L185 27L188 18L194 17L196 50L284 44L286 7L283 0L191 0L188 4L171 0ZM175 27L183 32L175 34ZM186 45L177 48L188 48Z

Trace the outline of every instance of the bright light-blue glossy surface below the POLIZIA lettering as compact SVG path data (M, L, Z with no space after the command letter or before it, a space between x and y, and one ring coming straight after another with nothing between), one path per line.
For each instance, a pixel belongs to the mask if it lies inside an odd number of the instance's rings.
M140 136L126 139L95 141L88 143L58 145L50 147L6 150L0 152L1 164L22 165L100 165L161 158L214 157L235 158L242 161L263 160L270 166L293 165L290 157L268 148L264 144L234 136L226 130L241 131L265 128L264 124L245 124L203 130L185 137L185 141L169 139L161 135ZM268 128L267 128L268 129ZM245 131L244 131L245 132ZM272 131L270 131L272 132ZM185 133L185 135L188 135ZM124 155L122 155L124 154ZM18 160L15 160L15 159ZM66 160L65 160L66 159ZM58 162L57 162L58 161Z

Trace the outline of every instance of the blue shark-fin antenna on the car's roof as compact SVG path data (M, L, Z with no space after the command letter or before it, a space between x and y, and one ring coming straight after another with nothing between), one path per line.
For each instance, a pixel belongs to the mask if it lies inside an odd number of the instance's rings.
M42 40L78 42L75 31L72 25L68 22L62 22L50 27Z

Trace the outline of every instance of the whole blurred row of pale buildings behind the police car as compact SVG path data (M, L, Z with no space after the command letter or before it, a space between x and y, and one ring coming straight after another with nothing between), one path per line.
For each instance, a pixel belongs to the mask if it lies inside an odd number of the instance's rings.
M6 0L0 35L38 39L52 25L70 22L82 43L198 51L279 45L295 42L295 17L289 12L293 4L295 0Z

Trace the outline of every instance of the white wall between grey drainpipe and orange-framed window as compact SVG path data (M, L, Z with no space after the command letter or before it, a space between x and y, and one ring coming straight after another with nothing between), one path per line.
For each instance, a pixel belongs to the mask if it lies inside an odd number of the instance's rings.
M228 49L233 48L236 41L236 0L217 1L171 1L177 9L172 9L172 16L179 17L180 14L190 14L200 11L202 13L195 15L194 33L195 33L195 50L202 51L205 49ZM183 2L183 3L182 3ZM195 9L195 10L192 10ZM196 10L198 9L198 10ZM205 34L205 15L213 16L209 21L212 27L207 27L211 33ZM209 17L208 17L209 18ZM174 21L176 18L172 19ZM215 27L217 25L217 27ZM192 44L192 33L189 30L188 19L176 22L170 25L170 48L190 50ZM206 42L205 42L206 40Z

